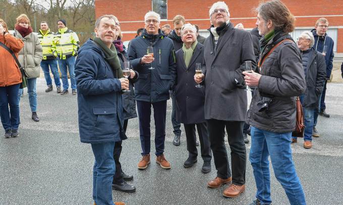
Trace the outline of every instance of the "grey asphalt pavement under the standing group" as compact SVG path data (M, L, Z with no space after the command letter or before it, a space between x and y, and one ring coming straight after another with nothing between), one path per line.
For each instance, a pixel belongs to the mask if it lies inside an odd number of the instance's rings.
M94 157L89 144L80 143L78 133L77 96L62 96L54 90L45 93L44 78L37 79L40 122L31 120L28 94L21 98L20 137L5 139L0 130L0 204L92 204L92 167ZM319 138L313 148L304 149L302 139L292 145L293 159L301 179L307 204L343 204L343 83L329 83L326 112L319 117ZM71 91L71 89L70 89ZM164 170L154 161L154 125L151 123L152 157L146 170L138 170L140 140L138 119L129 120L128 140L123 142L123 170L134 175L130 183L135 193L113 191L113 200L127 204L249 204L256 187L252 167L247 160L246 191L237 198L225 198L222 191L206 187L216 176L201 173L202 159L192 168L184 168L187 159L186 139L182 126L181 146L174 146L170 122L171 101L167 105L165 156L172 169ZM85 119L86 120L86 119ZM198 148L200 149L200 148ZM230 148L228 153L230 153ZM247 144L247 157L250 144ZM199 150L200 152L200 150ZM273 204L289 204L271 169Z

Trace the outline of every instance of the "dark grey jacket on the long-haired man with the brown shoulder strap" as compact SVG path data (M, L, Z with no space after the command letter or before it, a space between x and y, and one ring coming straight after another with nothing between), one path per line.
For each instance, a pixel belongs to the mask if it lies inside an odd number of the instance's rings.
M278 39L272 39L267 43L270 50L282 39L292 39L290 35L282 35ZM264 51L262 59L266 55ZM306 81L300 51L293 41L284 41L265 58L261 68L262 75L257 89L250 104L247 114L247 123L258 129L288 133L296 126L296 96L300 96L306 90ZM259 112L257 106L263 96L272 98L269 109Z

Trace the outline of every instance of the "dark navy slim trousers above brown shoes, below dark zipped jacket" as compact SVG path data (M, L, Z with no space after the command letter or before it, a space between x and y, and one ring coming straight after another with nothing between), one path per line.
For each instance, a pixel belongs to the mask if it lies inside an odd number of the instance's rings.
M136 101L139 118L139 136L141 139L142 155L150 153L150 116L151 105L154 109L155 122L155 149L156 156L164 152L165 139L165 117L167 109L167 100L159 102Z

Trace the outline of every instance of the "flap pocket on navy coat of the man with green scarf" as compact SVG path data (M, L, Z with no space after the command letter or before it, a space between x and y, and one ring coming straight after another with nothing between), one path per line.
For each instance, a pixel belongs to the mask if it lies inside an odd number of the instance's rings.
M94 136L108 135L119 131L117 110L115 107L95 107L93 114L96 116Z

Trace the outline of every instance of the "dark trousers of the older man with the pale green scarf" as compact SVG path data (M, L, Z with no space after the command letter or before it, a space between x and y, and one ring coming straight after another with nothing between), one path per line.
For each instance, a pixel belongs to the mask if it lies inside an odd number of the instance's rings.
M198 124L184 124L186 140L187 140L187 150L189 152L189 157L197 158L198 150L196 147L196 135L195 135L195 126L197 126L199 140L200 140L200 150L201 157L205 161L211 161L212 153L210 149L210 141L208 138L207 125L206 123Z

